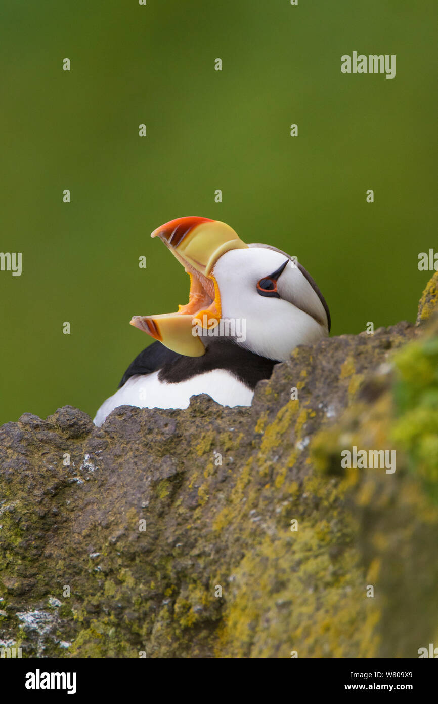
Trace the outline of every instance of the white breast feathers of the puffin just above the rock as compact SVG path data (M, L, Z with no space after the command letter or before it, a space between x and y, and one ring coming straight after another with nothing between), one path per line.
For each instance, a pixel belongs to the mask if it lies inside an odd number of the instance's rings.
M254 391L229 372L215 369L178 384L160 382L158 372L135 375L122 389L107 398L96 413L95 425L102 425L117 406L139 408L187 408L191 396L208 394L221 406L250 406Z

